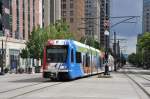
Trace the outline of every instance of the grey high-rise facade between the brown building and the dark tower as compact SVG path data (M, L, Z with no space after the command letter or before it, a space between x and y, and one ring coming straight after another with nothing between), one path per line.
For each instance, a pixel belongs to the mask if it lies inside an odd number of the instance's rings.
M85 0L85 35L100 42L100 1Z

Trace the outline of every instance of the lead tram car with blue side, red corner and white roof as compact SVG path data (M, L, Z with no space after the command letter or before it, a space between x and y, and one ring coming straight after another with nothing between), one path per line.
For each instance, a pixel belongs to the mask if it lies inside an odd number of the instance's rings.
M43 77L75 79L104 71L98 49L74 40L48 40L44 48Z

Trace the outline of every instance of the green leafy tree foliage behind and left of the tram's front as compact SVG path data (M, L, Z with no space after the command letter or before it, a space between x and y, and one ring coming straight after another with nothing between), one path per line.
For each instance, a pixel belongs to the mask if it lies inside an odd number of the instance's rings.
M58 20L55 24L50 24L45 28L40 26L33 28L26 47L29 57L40 59L43 57L43 49L48 39L73 39L73 34L69 32L66 22Z

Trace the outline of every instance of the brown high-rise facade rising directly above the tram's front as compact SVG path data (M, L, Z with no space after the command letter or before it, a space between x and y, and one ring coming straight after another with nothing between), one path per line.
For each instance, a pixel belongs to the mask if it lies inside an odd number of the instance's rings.
M85 35L84 24L84 0L61 0L61 16L64 21L69 24L69 30L72 32L76 40L80 40Z

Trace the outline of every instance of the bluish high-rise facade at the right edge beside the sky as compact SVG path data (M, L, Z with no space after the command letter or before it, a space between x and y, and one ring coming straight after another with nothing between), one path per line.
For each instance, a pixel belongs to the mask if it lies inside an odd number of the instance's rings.
M150 0L143 2L143 33L150 32Z

